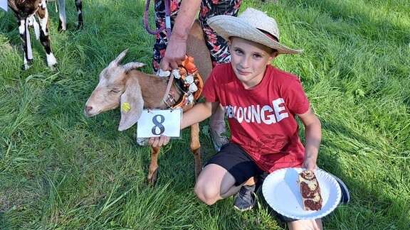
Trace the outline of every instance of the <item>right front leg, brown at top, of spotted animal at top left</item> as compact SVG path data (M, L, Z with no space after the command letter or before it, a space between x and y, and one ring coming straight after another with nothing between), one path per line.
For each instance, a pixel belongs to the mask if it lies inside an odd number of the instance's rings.
M40 7L36 12L36 16L38 18L38 22L40 23L40 41L41 45L43 45L44 50L46 50L46 57L47 57L47 64L48 67L53 69L54 65L56 65L57 60L54 57L53 52L51 51L50 45L50 36L48 35L48 11L47 7Z

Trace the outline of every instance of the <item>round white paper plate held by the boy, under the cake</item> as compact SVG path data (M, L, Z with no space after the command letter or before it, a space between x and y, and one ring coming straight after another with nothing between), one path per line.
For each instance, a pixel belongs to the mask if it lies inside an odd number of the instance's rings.
M262 185L263 197L279 214L292 219L317 219L330 214L340 202L340 186L324 170L314 170L323 199L319 211L305 211L298 185L298 175L305 168L283 168L270 173Z

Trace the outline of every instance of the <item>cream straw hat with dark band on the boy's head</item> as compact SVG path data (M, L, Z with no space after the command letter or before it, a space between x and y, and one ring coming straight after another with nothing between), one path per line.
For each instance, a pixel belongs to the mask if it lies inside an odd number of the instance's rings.
M276 49L279 54L303 51L293 50L276 41L275 38L279 40L279 29L275 19L253 8L246 9L238 17L219 15L209 18L207 22L225 40L230 37L244 38Z

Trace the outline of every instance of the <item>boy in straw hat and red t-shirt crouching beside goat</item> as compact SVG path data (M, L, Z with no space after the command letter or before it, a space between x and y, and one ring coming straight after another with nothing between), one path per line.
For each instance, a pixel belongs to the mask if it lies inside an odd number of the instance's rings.
M219 104L224 106L231 140L204 165L195 192L209 205L238 192L234 206L246 211L256 204L258 176L280 168L317 168L321 125L298 77L270 65L279 54L302 52L279 43L275 19L246 9L238 17L214 16L208 23L228 40L231 63L212 70L203 91L206 102L184 113L181 128L208 118ZM295 116L305 126L305 147ZM149 144L162 146L168 141L162 136L150 138ZM348 202L347 188L340 183L342 198ZM321 219L280 218L289 229L322 229Z

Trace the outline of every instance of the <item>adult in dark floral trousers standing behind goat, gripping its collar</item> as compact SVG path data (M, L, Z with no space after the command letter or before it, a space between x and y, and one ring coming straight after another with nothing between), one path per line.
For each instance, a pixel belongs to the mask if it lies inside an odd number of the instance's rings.
M217 15L237 16L241 0L156 0L154 1L154 11L157 29L166 23L165 1L169 1L172 35L169 37L167 31L162 31L155 35L153 46L154 72L157 72L159 69L177 69L181 65L186 55L186 39L198 15L198 11L199 22L204 31L213 67L220 63L229 62L228 43L209 27L206 20ZM219 108L211 116L209 123L212 143L214 148L219 150L224 143L228 142L228 138L224 135L226 133L224 109Z

